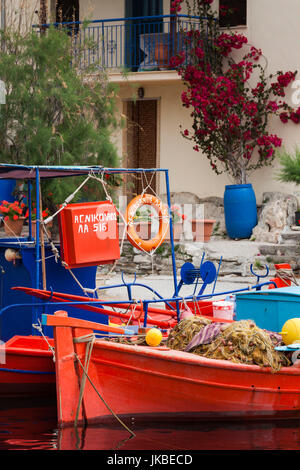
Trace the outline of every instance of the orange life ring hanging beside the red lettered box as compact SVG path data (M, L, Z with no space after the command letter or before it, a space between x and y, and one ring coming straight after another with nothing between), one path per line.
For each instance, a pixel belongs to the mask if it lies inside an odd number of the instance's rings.
M134 227L136 211L144 205L154 207L159 217L158 232L150 240L140 238ZM168 234L170 221L168 206L152 194L140 194L132 199L127 206L125 220L127 223L127 239L133 246L142 251L151 252L164 241Z

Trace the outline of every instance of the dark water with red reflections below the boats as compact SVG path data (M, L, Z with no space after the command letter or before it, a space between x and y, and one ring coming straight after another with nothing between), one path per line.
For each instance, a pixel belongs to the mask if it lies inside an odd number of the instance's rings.
M151 427L127 423L58 429L56 404L6 400L0 404L0 450L300 450L300 421L232 422Z

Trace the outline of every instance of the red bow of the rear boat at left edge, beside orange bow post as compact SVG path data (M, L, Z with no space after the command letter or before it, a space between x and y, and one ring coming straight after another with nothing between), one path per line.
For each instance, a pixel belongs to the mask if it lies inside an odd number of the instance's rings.
M49 340L53 344L53 340ZM5 343L0 364L0 396L55 396L55 365L39 336L14 336Z

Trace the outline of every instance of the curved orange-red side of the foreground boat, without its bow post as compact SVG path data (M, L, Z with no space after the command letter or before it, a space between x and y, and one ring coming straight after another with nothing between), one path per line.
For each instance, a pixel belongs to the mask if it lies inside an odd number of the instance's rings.
M300 370L207 359L166 348L97 341L90 378L118 416L168 419L300 416ZM92 389L98 416L111 412ZM101 403L100 403L101 402Z

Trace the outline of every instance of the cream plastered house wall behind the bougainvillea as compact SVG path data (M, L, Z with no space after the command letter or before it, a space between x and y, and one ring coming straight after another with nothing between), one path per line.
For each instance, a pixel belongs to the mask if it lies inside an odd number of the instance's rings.
M248 0L247 3L247 27L239 28L239 32L248 37L249 43L262 49L268 61L268 71L300 71L300 1ZM169 4L169 0L164 0L164 14L168 14ZM124 5L124 0L81 1L81 19L85 16L94 19L122 17ZM218 0L214 5L218 6ZM182 13L184 12L183 10ZM298 79L300 80L300 73ZM227 175L217 176L211 170L207 158L195 152L192 143L180 134L180 124L183 128L191 125L189 113L181 105L181 83L147 83L144 88L145 97L160 98L160 166L170 168L172 190L189 191L200 197L223 196L224 185L231 184L232 181ZM290 104L293 91L291 88L287 91L287 101ZM124 85L121 88L120 100L129 98L132 93L132 89ZM276 118L270 123L269 130L283 139L283 145L288 150L292 150L296 144L300 146L300 124L284 125ZM118 136L118 145L121 154L121 135ZM249 182L253 184L258 202L261 202L262 194L266 191L300 191L300 188L293 184L279 183L277 173L278 163L275 162L273 167L259 169L250 175Z

